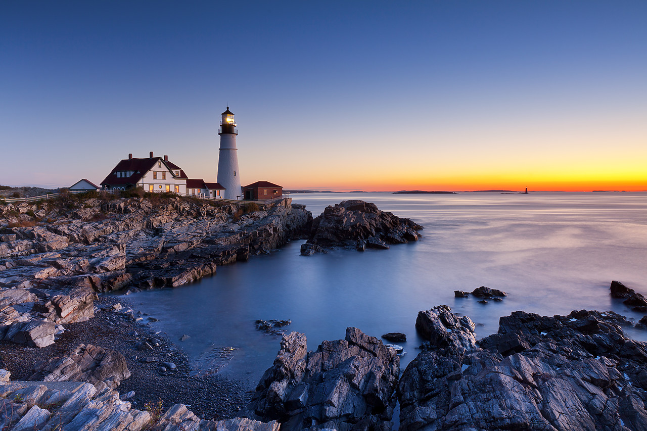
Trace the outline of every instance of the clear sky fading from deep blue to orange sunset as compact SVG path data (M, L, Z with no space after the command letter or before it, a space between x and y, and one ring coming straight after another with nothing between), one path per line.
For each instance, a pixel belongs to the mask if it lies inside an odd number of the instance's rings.
M647 190L647 1L3 1L0 184Z

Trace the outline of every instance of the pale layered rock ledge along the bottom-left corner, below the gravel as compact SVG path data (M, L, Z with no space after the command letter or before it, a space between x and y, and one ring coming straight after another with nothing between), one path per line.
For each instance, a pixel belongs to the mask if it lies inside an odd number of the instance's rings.
M7 377L4 379L4 377ZM9 381L0 370L0 429L12 431L278 431L276 421L199 419L184 404L137 410L111 388L84 382Z

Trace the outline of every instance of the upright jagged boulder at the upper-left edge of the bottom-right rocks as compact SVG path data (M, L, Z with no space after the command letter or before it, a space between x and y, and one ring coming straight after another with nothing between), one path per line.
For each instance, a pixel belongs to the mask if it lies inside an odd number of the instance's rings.
M457 316L447 305L420 311L415 329L431 347L471 349L476 347L476 326L467 316Z

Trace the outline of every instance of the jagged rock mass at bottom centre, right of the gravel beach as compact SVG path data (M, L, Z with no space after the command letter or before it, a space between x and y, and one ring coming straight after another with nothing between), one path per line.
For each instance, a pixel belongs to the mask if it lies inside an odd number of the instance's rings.
M390 431L399 364L393 349L354 327L310 353L305 335L292 332L242 413L278 420L281 431Z

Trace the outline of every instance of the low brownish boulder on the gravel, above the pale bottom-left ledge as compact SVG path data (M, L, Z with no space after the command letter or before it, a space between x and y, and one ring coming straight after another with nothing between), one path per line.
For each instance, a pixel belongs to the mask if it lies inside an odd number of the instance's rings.
M114 350L92 344L80 344L69 355L41 361L34 365L30 381L83 381L98 390L115 389L130 377L124 356Z

